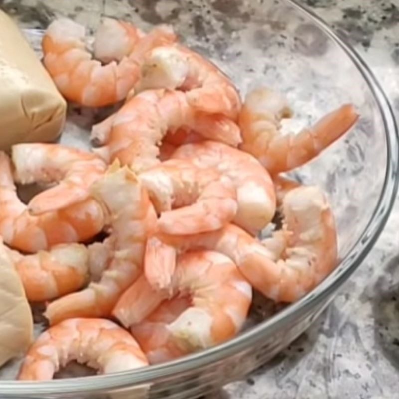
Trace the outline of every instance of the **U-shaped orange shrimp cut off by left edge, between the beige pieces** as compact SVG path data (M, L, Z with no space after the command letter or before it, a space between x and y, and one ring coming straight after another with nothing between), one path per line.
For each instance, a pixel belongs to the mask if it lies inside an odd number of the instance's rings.
M8 156L0 152L0 235L6 244L34 253L53 245L84 242L104 227L101 205L89 198L59 211L32 216L18 198Z

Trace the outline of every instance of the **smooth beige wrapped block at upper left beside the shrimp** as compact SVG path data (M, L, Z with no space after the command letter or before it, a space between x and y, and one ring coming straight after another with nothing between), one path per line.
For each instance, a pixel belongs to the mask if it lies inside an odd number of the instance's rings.
M66 102L16 24L0 10L0 149L54 141Z

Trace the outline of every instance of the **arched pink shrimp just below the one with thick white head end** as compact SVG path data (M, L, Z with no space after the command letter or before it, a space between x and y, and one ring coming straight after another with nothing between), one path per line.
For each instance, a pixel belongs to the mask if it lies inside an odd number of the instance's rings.
M200 115L201 123L196 125L197 117L198 114L193 112L182 92L144 91L130 99L111 120L107 120L106 129L100 129L101 136L107 140L106 144L94 151L107 162L118 159L123 165L141 172L159 162L158 146L168 130L189 126L204 137L215 136L216 131L219 136L223 134L227 139L236 135L239 138L238 127L231 125L232 122L227 122L226 118ZM216 124L212 123L212 118L216 118ZM232 131L229 128L231 126L237 130ZM104 132L107 129L109 131Z

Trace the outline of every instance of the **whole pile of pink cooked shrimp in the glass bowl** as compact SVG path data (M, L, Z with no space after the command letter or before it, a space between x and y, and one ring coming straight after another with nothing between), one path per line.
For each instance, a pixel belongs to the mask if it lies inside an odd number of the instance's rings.
M49 323L20 380L52 379L71 360L112 373L209 348L240 332L253 290L291 303L336 267L326 194L283 174L348 132L353 105L282 134L281 93L242 100L169 26L105 18L92 55L84 27L59 19L42 44L68 101L120 108L92 127L91 151L0 153L1 245ZM25 204L16 184L30 183L48 188ZM259 239L276 213L281 226Z

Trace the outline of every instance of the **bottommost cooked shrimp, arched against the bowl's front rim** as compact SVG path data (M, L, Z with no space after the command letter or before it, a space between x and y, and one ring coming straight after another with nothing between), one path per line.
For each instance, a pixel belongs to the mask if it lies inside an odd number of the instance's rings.
M30 347L18 380L52 380L70 361L85 363L99 374L148 366L136 340L104 319L70 319L44 331Z

